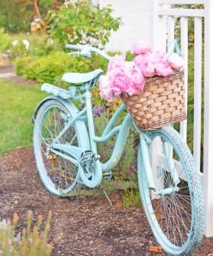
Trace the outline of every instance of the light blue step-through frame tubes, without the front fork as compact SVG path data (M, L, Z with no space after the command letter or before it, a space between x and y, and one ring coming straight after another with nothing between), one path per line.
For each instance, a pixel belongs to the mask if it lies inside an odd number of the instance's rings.
M85 92L85 108L80 112L78 112L78 114L74 116L71 120L69 120L66 126L64 127L64 129L60 131L60 134L57 136L57 138L53 140L54 153L56 153L55 150L60 150L60 148L61 149L63 148L65 150L65 147L67 145L59 144L58 141L66 133L66 131L71 127L71 125L73 125L75 122L77 122L82 118L87 118L90 147L95 154L98 154L97 143L103 143L109 140L113 135L115 135L118 132L116 144L110 159L106 163L102 163L103 172L113 169L116 166L116 164L119 162L120 158L122 157L122 152L124 150L124 146L128 138L130 126L133 125L133 119L131 118L130 114L127 114L122 121L122 125L118 125L112 129L113 125L115 125L116 123L117 118L119 118L119 116L122 114L124 109L125 109L125 106L122 104L116 110L113 117L110 119L110 122L105 127L102 136L97 137L95 134L95 127L94 127L92 107L91 107L91 93L89 89L87 89ZM63 156L67 158L67 156L66 155L64 156L63 153L57 152L57 154L60 154L61 157ZM69 159L71 160L72 157L69 157ZM72 162L76 163L76 160L72 159Z

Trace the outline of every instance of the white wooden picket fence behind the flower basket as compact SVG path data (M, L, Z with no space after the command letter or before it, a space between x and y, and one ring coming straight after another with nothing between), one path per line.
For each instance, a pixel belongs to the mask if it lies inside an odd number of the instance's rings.
M152 0L153 48L166 50L172 42L179 19L181 52L185 58L185 94L188 92L188 24L194 21L194 129L193 156L200 169L204 157L203 179L206 221L205 235L213 236L213 1ZM194 8L191 9L193 4ZM197 4L203 4L197 9ZM178 6L178 7L177 7ZM204 40L202 27L204 20ZM204 45L203 45L204 42ZM204 48L204 156L201 156L202 134L202 53ZM180 125L180 134L187 138L187 121Z

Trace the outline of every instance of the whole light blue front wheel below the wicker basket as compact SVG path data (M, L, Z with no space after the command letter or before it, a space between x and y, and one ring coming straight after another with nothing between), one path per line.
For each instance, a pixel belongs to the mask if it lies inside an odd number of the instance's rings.
M197 169L187 145L171 126L148 134L155 191L148 187L141 146L138 152L139 190L147 219L166 253L190 255L204 232L204 196Z

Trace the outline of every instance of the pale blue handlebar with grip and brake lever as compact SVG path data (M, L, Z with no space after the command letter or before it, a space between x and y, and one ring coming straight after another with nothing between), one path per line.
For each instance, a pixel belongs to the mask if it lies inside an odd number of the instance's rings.
M91 47L90 45L82 45L82 44L66 44L67 49L72 49L72 50L78 50L78 52L72 53L72 54L78 54L80 56L85 56L87 58L91 57L91 52L97 53L101 56L103 56L104 59L110 61L111 57L110 55L104 53L102 50L98 48Z

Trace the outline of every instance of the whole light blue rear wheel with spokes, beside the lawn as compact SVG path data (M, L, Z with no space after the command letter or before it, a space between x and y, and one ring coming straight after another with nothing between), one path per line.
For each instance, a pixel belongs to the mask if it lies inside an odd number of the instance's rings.
M41 182L53 195L65 196L80 183L78 166L50 150L53 139L57 138L73 114L60 100L51 99L41 106L34 120L34 156L37 170ZM86 130L82 130L82 125L79 127L78 123L75 122L60 138L61 144L86 148Z

